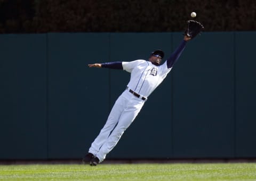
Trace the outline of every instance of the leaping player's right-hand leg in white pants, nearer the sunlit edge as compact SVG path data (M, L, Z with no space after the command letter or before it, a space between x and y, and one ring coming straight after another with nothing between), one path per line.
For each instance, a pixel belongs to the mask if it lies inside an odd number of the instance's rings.
M115 129L107 138L106 142L101 146L100 151L97 153L96 157L102 162L106 155L115 147L119 139L123 135L124 131L131 125L135 117L137 117L140 112L144 102L137 101L134 105L129 105L119 118L118 124Z

